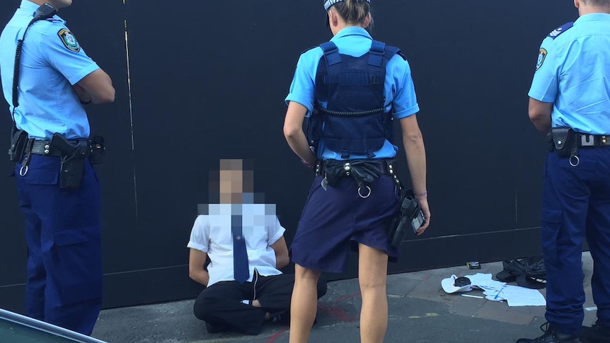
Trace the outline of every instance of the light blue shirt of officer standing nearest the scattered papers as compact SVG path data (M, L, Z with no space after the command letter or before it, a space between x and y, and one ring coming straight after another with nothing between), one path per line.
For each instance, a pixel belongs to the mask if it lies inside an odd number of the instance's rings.
M610 14L581 16L543 40L529 96L553 103L553 127L610 134Z

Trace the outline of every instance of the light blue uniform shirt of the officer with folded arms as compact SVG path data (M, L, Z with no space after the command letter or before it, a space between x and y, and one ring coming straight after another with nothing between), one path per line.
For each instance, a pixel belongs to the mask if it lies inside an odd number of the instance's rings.
M4 98L13 112L13 65L17 40L33 18L37 4L23 0L0 36L0 75ZM72 85L99 69L71 35L65 21L54 16L37 21L23 43L15 122L30 137L50 139L54 132L68 139L89 136L89 122Z

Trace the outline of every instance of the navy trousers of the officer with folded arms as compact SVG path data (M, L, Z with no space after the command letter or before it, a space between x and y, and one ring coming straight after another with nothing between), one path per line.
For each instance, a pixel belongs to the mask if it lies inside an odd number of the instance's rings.
M28 243L25 315L91 335L102 298L100 186L86 161L83 185L61 189L59 168L59 157L40 155L25 175L16 166Z

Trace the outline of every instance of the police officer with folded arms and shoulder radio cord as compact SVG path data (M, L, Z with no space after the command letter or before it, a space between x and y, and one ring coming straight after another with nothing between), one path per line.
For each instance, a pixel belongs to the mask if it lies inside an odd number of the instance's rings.
M71 2L21 1L0 36L0 69L13 138L19 138L11 148L25 146L16 154L29 251L25 314L90 335L102 296L101 221L100 187L84 157L89 152L84 104L110 103L115 90L62 18L53 15L53 8ZM18 40L23 47L16 57ZM57 146L50 142L54 134ZM71 156L67 147L75 148Z

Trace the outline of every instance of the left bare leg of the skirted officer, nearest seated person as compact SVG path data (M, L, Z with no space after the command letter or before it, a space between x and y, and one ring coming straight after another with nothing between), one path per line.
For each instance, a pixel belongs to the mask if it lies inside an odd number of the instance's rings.
M306 343L318 310L320 272L294 265L294 289L290 305L290 343Z

